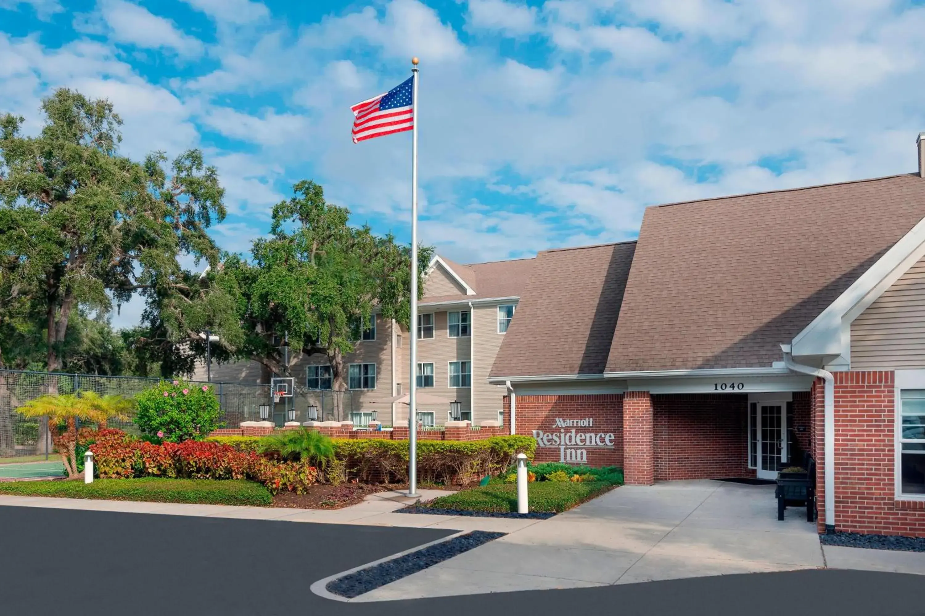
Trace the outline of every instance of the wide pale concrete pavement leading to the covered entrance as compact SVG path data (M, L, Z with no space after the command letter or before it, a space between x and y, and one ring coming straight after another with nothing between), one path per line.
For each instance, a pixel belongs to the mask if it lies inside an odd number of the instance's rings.
M354 601L633 584L824 568L805 510L777 521L773 486L676 481L615 489ZM925 574L925 554L833 550L830 567Z

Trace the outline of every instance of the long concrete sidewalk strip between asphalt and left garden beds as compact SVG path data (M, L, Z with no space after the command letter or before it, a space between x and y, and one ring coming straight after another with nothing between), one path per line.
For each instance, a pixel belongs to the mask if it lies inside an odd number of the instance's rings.
M451 493L439 489L419 489L418 492L422 501ZM291 509L288 507L244 507L176 502L100 501L0 495L0 506L49 507L54 509L123 513L159 513L247 520L277 520L281 522L401 526L408 528L430 527L453 530L488 530L503 533L520 530L527 526L535 525L537 522L537 520L394 513L395 510L413 504L415 501L418 501L418 499L409 499L403 492L395 490L370 494L363 502L343 509Z

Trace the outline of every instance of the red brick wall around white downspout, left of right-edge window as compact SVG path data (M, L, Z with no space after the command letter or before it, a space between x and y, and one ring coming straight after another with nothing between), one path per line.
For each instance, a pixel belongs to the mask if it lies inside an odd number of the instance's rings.
M834 372L835 530L925 537L925 508L895 497L894 373ZM819 530L825 529L822 382L813 397Z

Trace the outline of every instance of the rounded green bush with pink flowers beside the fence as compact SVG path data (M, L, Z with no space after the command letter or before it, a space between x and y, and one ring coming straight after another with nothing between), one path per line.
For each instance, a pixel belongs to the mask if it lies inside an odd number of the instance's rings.
M143 436L158 442L202 441L221 428L221 408L211 385L162 380L136 395L135 404L135 424Z

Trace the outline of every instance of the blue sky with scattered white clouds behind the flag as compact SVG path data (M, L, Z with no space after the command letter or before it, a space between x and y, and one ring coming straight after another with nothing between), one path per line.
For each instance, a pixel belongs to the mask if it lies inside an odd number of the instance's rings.
M889 0L0 0L0 112L36 130L68 86L116 104L133 157L202 148L229 250L303 178L407 241L410 134L353 144L349 107L418 55L422 240L497 260L633 238L653 203L912 171L923 31Z

